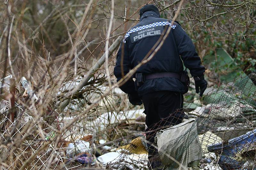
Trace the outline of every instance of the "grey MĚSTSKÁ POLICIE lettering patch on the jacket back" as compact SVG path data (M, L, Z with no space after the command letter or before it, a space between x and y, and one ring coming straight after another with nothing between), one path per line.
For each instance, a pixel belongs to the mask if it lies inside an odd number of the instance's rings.
M145 37L152 37L164 34L164 26L155 26L148 29L139 30L130 34L132 43Z

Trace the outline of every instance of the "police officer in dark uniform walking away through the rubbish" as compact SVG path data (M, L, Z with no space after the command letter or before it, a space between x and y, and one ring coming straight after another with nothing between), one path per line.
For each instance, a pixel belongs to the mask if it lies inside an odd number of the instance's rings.
M143 102L150 169L160 166L154 140L156 131L162 127L180 124L185 115L181 108L188 84L181 81L184 75L183 64L195 79L196 93L200 89L199 96L202 96L207 88L204 80L205 68L201 65L195 46L180 24L174 22L171 25L171 22L160 18L155 5L143 6L140 9L140 22L126 33L120 45L114 68L114 74L119 81L150 53L161 35L166 34L168 27L172 27L154 57L136 71L136 81L131 78L120 86L128 94L130 103L141 105Z

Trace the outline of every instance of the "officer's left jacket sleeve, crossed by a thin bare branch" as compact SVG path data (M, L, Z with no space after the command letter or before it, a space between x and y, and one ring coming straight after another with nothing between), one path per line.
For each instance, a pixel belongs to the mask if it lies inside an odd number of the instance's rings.
M114 68L114 75L117 78L116 81L121 80L123 76L125 76L130 71L130 69L132 69L132 67L129 60L128 42L126 41L126 43L124 42L121 43L119 50L117 52L116 66ZM123 72L123 75L122 75L122 72ZM137 93L137 91L135 91L134 81L132 80L132 78L126 81L122 86L119 86L119 88L124 93L127 93L127 94Z

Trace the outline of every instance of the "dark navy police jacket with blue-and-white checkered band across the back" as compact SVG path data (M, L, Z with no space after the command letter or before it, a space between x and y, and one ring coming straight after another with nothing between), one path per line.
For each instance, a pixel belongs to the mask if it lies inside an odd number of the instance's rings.
M201 65L201 59L196 53L193 42L181 26L177 23L171 25L170 20L160 18L159 13L155 11L147 11L140 17L140 22L126 33L120 45L114 68L117 81L122 78L122 72L124 73L123 75L127 74L143 60L155 45L160 35L165 34L166 27L170 26L172 29L162 47L136 73L154 74L172 72L181 74L183 71L183 60L185 67L190 70L190 74L193 77L203 75L205 69ZM121 62L123 63L121 64ZM120 89L128 94L137 93L132 78L120 86ZM161 90L182 92L184 91L184 85L180 80L172 77L150 79L146 80L138 88L138 93L140 96L143 96L144 94Z

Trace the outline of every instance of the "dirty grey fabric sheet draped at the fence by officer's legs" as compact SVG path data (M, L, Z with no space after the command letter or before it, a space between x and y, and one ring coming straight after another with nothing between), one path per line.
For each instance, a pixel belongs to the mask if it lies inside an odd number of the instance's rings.
M196 136L196 138L191 139L191 136ZM156 138L160 160L173 170L182 170L184 166L188 167L189 163L204 158L195 119L162 130L158 132ZM171 157L180 162L183 167L176 164Z

